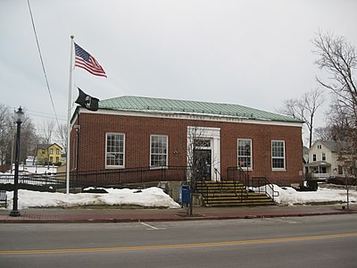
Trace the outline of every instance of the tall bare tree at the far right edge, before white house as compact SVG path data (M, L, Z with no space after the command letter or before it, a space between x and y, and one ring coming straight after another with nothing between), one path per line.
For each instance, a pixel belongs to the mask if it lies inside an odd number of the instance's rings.
M328 88L334 97L328 121L336 139L350 146L345 153L357 154L357 88L354 75L357 69L356 48L345 38L319 32L312 42L318 55L316 64L328 71L328 79L317 78L320 85Z

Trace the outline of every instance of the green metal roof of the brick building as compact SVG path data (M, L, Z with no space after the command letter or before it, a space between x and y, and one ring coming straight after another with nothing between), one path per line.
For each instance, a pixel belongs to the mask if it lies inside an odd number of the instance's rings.
M206 103L198 101L154 98L144 96L119 96L99 102L100 109L117 111L140 112L166 112L166 113L190 113L216 116L232 116L265 121L289 121L303 122L295 118L277 113L245 107L242 105L228 105Z

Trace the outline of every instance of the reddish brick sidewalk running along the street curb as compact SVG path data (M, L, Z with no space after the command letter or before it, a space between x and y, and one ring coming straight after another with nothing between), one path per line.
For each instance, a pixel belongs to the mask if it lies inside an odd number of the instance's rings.
M28 208L20 217L10 217L10 209L0 209L0 223L84 223L84 222L171 222L199 220L253 219L331 214L357 214L357 204L343 205L270 205L254 207L194 206L179 209L115 209L115 208Z

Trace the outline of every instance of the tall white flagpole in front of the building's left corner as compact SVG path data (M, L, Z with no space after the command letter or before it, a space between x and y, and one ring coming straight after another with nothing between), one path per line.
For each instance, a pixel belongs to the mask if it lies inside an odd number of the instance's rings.
M72 71L73 71L73 38L71 36L70 81L68 86L68 113L67 113L67 159L66 159L66 193L70 194L70 164L71 164L71 108L72 108Z

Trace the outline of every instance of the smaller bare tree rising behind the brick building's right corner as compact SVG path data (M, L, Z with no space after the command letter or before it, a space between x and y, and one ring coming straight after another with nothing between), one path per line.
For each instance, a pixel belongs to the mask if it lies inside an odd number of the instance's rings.
M311 92L304 93L300 99L287 99L278 110L279 113L304 121L309 131L309 147L312 144L313 119L324 102L323 92L321 88L312 89Z

